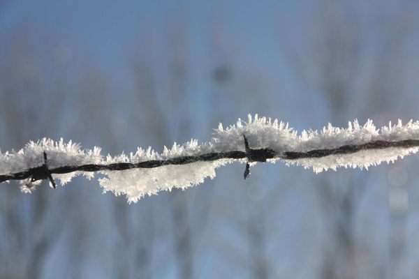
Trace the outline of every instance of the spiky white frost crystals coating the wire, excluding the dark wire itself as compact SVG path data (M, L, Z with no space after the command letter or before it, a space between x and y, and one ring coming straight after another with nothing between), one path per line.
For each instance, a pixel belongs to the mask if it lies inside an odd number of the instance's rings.
M357 120L348 123L348 128L335 128L331 124L317 130L303 130L300 135L297 131L275 119L265 117L248 116L247 122L239 119L237 123L228 128L215 130L214 137L210 142L198 144L197 140L191 140L186 144L174 144L171 149L164 148L163 153L139 148L137 152L128 156L121 154L104 158L101 149L81 149L79 144L65 143L64 140L54 142L43 139L38 142L29 142L20 151L0 152L0 174L13 174L22 172L31 167L43 165L43 151L47 153L47 163L50 169L65 165L103 164L110 163L139 163L146 160L166 160L179 156L196 156L203 153L222 151L244 151L243 135L246 135L251 149L270 148L277 152L277 158L270 160L274 163L278 160L287 165L302 165L304 168L312 167L314 172L322 172L337 167L360 167L367 168L383 161L392 162L397 158L403 158L409 153L416 153L414 148L388 148L362 150L345 155L330 155L323 158L306 158L298 160L281 159L285 151L304 152L314 149L334 149L347 144L365 144L376 140L399 141L418 140L419 122L410 121L402 125L389 123L388 127L376 129L372 121L367 121L360 126ZM127 169L124 171L101 171L104 177L99 179L104 192L112 191L115 195L126 195L128 202L137 202L145 195L153 195L161 190L175 188L188 188L202 183L206 177L211 179L215 176L216 167L241 160L216 160L212 162L196 162L186 165L166 165L150 169ZM83 174L88 178L93 176L91 172L74 172L71 174L54 174L54 178L60 179L61 184L67 183L75 175Z

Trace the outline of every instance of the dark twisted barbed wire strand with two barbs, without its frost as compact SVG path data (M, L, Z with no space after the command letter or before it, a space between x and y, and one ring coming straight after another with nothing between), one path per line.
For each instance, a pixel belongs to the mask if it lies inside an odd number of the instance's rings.
M186 165L189 163L195 163L200 161L214 161L220 159L244 159L247 158L246 170L244 172L244 179L250 174L251 162L266 162L268 159L279 158L282 160L298 160L303 158L322 158L330 155L348 154L355 153L362 150L368 149L387 149L387 148L413 148L419 146L419 140L401 140L396 142L388 142L383 140L377 140L374 142L368 142L366 144L351 144L340 146L335 149L315 149L307 152L295 152L285 151L283 153L277 153L270 148L265 149L251 149L247 137L243 135L244 145L246 151L228 151L228 152L214 152L206 153L199 156L180 156L177 158L171 158L168 160L147 160L140 163L112 163L109 165L78 165L78 166L62 166L49 169L47 167L47 153L43 153L44 164L40 167L33 167L23 172L17 172L14 174L3 174L0 175L0 182L9 180L23 180L31 179L31 181L37 181L41 179L50 179L52 186L55 188L56 183L52 179L52 174L68 174L70 172L98 172L101 170L121 171L125 169L135 168L154 168L161 167L164 165Z

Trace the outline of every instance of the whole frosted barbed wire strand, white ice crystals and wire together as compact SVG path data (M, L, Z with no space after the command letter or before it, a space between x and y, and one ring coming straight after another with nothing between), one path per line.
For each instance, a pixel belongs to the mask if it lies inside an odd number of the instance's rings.
M156 153L151 147L135 153L103 157L101 149L81 149L73 142L43 139L29 142L20 151L0 152L0 182L21 180L22 190L30 192L42 179L54 179L61 185L74 176L88 179L94 172L103 174L98 179L104 192L126 195L128 202L137 202L145 195L161 190L188 188L215 176L215 169L227 163L246 163L244 178L249 174L249 163L282 161L286 165L312 167L314 172L337 167L363 167L390 163L419 150L419 122L402 125L391 122L376 129L371 120L360 126L357 120L348 128L331 124L317 130L303 130L300 135L288 123L265 117L248 116L228 128L215 130L210 142L164 147Z

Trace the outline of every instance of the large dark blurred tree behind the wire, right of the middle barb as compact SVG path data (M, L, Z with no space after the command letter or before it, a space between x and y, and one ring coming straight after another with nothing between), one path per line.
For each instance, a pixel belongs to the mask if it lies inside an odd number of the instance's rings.
M339 126L347 121L348 112L353 110L349 100L355 91L360 67L362 28L352 5L347 7L343 1L325 0L320 6L320 20L311 25L311 59L308 63L312 63L311 73L318 91L330 104L330 119ZM363 184L354 180L353 172L341 173L338 180L329 173L321 177L316 189L331 237L325 248L320 277L356 278L355 218L360 198L357 188Z

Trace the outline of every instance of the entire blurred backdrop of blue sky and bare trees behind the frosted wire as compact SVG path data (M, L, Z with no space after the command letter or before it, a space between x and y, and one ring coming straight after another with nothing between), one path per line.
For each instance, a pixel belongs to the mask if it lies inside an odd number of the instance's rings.
M0 0L0 148L103 153L419 119L417 1ZM416 278L419 157L314 174L258 164L126 204L80 178L0 187L0 278Z

